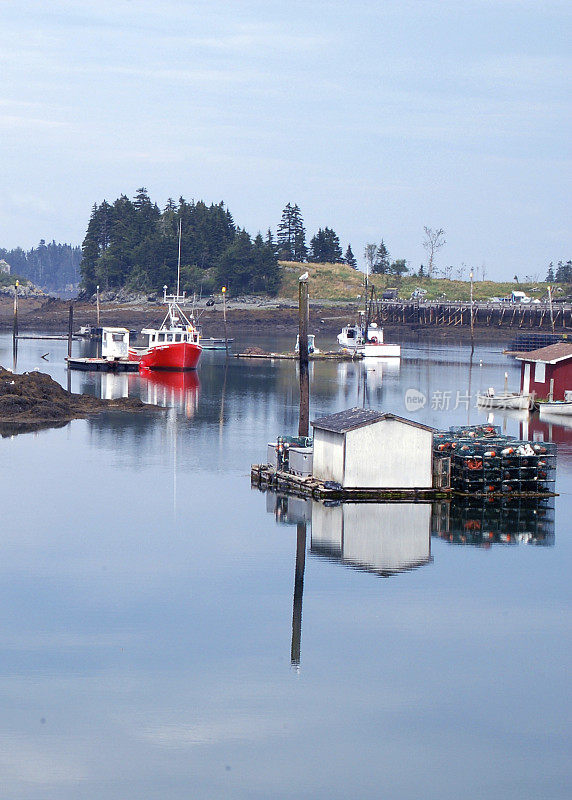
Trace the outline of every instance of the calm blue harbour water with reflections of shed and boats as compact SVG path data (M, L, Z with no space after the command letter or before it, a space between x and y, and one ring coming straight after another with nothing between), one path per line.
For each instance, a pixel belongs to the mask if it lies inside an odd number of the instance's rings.
M66 347L21 341L18 371L66 386ZM483 422L476 392L518 383L500 349L470 376L466 347L430 342L398 368L314 364L311 416ZM2 797L570 796L572 428L496 416L558 442L560 496L547 535L508 521L511 544L460 546L429 506L342 520L250 488L266 442L296 432L292 362L69 378L169 409L0 440Z

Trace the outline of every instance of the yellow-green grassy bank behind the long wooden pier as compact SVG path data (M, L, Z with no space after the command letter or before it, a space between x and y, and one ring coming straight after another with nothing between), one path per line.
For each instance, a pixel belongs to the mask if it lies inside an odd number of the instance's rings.
M316 300L355 301L363 295L364 275L346 264L298 264L281 261L280 297L292 300L298 297L298 277L306 270L309 273L310 296ZM378 297L388 287L398 289L400 299L409 299L417 288L425 289L428 300L469 300L471 285L467 281L453 281L447 278L419 278L404 276L398 280L394 275L372 275L370 281L376 287ZM474 281L475 300L488 300L491 297L506 297L512 291L526 292L529 297L542 298L547 293L546 283L516 283L516 281ZM557 291L562 289L562 292ZM567 292L567 287L553 286L556 297Z

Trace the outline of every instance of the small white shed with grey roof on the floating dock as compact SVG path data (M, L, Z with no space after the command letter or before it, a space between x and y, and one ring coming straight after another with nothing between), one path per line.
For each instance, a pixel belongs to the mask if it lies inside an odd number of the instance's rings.
M344 488L431 489L434 429L350 408L312 422L313 477Z

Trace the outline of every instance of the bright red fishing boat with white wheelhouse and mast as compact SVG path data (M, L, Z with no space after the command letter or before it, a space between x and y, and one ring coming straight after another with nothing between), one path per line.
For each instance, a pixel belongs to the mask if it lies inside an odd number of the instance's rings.
M181 308L185 294L168 295L164 288L163 301L168 311L159 328L143 328L146 347L130 347L129 360L138 361L139 369L187 370L196 369L201 357L200 332Z

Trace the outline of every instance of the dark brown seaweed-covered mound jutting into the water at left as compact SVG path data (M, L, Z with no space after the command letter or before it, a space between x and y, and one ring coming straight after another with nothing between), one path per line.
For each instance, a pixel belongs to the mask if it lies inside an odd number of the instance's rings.
M0 366L0 421L66 422L102 411L153 409L141 400L99 400L87 394L67 392L43 372L17 374Z

